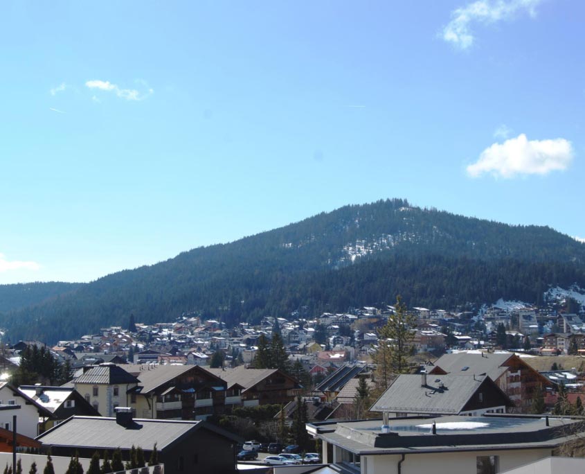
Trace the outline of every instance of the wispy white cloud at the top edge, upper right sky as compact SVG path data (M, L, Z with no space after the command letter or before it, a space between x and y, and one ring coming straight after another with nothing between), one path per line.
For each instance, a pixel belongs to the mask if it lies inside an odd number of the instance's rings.
M475 41L471 24L493 24L510 20L519 12L528 12L530 17L534 17L539 3L541 0L474 1L451 12L451 21L443 28L442 38L459 49L468 49Z

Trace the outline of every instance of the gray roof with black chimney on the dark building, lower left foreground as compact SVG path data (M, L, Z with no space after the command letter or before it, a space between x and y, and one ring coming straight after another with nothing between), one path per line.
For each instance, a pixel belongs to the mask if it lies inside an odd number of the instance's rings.
M73 448L130 449L132 445L145 450L154 443L163 450L173 441L196 430L201 421L134 419L129 428L118 425L115 418L104 416L72 416L37 437L42 444Z

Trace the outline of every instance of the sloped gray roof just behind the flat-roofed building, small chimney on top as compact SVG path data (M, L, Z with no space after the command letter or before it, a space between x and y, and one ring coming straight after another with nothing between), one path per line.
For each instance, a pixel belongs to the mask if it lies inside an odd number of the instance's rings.
M386 392L375 401L370 411L459 414L484 380L489 380L486 376L429 375L426 378L426 385L422 386L421 377L420 375L399 375ZM492 380L487 383L493 384Z

